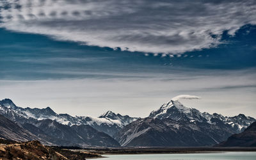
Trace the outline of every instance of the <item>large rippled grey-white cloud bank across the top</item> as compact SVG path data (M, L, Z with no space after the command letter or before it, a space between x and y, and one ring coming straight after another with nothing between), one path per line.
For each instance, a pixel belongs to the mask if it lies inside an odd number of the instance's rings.
M180 54L256 24L255 1L2 0L0 27L122 50ZM212 36L214 35L214 36Z

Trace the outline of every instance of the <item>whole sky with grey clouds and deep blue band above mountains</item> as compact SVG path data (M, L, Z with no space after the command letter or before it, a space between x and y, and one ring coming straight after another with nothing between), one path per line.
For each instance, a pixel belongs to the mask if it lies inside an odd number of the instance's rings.
M180 102L256 118L255 15L251 0L2 0L0 99L145 117L191 95Z

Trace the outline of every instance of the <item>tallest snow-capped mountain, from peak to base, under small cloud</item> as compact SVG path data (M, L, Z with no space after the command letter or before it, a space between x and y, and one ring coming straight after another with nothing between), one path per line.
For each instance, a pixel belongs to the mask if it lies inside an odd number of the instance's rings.
M201 113L171 100L115 134L122 146L209 146L243 131L254 118Z

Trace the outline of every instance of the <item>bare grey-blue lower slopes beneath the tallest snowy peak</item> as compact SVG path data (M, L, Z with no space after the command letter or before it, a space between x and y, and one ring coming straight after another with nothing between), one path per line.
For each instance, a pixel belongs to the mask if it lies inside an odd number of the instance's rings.
M116 134L122 146L205 146L216 143L214 132L193 123L170 118L144 118L127 125Z

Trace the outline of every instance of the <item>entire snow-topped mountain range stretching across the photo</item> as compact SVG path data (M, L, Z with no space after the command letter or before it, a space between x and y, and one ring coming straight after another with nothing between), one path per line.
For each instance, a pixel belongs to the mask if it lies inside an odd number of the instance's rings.
M97 118L71 116L57 114L49 107L20 108L10 99L0 100L0 114L6 117L3 122L12 122L20 132L31 135L28 140L80 147L210 146L243 132L255 122L254 118L243 114L202 113L195 108L186 108L179 100L164 103L146 118L122 116L112 111ZM11 131L15 131L15 127ZM6 134L0 132L0 136Z

